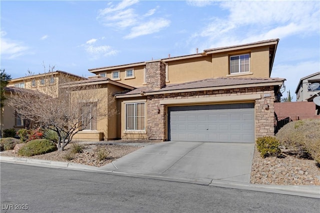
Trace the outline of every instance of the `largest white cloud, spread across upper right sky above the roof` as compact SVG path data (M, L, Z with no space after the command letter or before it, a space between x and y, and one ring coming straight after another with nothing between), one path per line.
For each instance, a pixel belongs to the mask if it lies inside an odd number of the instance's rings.
M207 37L204 48L319 32L317 1L221 1L220 7L227 18L208 17L191 37Z

